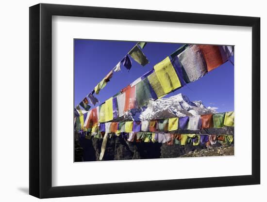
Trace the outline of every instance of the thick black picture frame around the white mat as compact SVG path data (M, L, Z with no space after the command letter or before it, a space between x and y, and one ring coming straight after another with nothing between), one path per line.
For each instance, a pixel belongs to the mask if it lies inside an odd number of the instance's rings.
M52 182L52 16L79 16L252 27L252 174L79 186ZM260 18L37 4L30 7L30 195L38 198L260 184Z

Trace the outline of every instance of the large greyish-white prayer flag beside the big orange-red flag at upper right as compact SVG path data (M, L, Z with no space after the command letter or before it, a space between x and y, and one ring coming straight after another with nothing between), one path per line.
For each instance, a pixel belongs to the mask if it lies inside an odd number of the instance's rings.
M186 83L195 81L207 73L206 62L197 45L188 47L177 57L184 68Z

